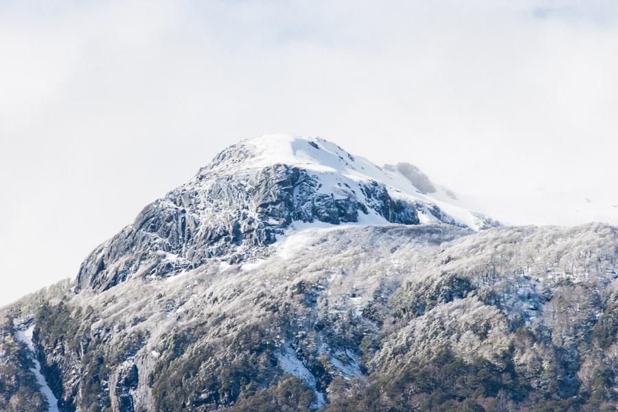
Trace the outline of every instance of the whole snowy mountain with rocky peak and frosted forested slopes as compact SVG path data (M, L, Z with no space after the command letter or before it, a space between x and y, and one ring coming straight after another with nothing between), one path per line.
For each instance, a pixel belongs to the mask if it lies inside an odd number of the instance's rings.
M456 197L323 139L241 141L0 311L0 409L615 410L617 228Z

